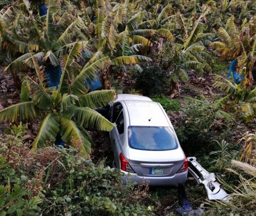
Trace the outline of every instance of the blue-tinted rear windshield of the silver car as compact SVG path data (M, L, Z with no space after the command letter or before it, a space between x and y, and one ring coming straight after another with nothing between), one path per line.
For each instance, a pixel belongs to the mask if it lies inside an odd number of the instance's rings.
M178 147L170 127L129 126L128 142L131 148L141 150L164 151Z

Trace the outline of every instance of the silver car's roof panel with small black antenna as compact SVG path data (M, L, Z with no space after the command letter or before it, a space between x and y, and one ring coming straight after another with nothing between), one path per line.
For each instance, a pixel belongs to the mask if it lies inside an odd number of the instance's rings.
M161 105L154 101L125 100L131 126L169 127Z

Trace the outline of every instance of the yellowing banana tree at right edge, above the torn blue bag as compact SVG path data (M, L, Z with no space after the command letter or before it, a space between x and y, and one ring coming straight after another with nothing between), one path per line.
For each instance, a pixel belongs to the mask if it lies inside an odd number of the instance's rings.
M221 41L210 43L210 46L216 48L216 52L220 54L220 60L238 60L238 72L245 71L244 82L247 88L252 88L256 77L256 35L254 27L250 22L245 24L243 30L238 30L234 24L234 18L227 20L226 28L220 27L218 35Z

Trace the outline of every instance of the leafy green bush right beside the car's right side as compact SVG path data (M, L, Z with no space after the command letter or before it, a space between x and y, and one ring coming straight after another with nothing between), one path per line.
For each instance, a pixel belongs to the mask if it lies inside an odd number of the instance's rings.
M228 130L232 126L231 117L220 112L201 96L200 100L187 98L185 113L181 115L176 133L187 155L210 153L215 150L213 141L221 141L223 137L231 138L234 132Z

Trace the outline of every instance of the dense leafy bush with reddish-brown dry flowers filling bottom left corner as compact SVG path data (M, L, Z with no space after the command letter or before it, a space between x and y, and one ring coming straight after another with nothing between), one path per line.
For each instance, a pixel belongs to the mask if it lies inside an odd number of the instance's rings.
M1 143L2 145L3 143ZM154 215L137 199L119 170L97 165L69 148L31 153L27 145L10 145L0 156L0 215ZM135 197L136 196L136 197Z

